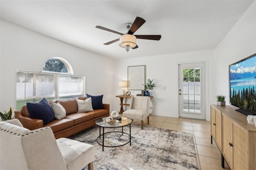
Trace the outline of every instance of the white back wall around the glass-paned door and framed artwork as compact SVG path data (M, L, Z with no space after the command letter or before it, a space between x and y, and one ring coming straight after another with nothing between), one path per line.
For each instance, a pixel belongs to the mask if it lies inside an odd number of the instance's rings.
M121 88L118 81L127 80L127 67L136 65L146 65L146 80L154 79L155 88L150 90L151 113L162 116L178 117L178 63L202 62L206 61L208 67L209 97L206 99L206 119L210 120L210 103L215 102L214 98L214 51L196 51L189 53L178 53L159 55L151 57L140 57L131 59L115 60L114 66L114 93L120 95ZM166 86L166 90L163 87ZM127 91L127 89L126 89ZM131 90L132 95L141 93L138 90ZM115 110L120 109L120 100L115 98L113 102ZM129 109L125 107L125 109Z

